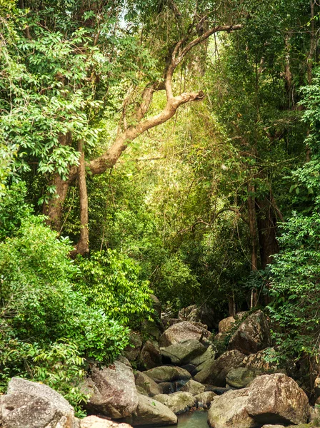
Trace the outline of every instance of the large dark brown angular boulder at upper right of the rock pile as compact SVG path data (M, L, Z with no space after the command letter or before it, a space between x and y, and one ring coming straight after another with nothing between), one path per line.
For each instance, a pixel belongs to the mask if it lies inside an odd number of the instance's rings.
M246 317L232 335L228 350L239 350L246 355L256 354L266 347L270 347L271 337L269 325L264 312L258 310Z

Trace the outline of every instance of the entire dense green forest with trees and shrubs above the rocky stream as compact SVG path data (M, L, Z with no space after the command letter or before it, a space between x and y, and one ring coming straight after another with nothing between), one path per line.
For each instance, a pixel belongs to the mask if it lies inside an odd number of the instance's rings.
M0 0L0 385L73 403L129 328L262 307L319 347L315 0Z

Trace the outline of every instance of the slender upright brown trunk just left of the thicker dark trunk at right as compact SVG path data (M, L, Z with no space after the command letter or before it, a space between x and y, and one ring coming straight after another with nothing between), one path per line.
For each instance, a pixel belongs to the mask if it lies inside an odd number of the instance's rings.
M251 237L251 270L258 270L258 253L257 242L258 236L256 231L256 198L254 196L255 187L250 181L248 184L248 217L249 217L249 230ZM257 292L256 289L251 290L250 307L256 306Z

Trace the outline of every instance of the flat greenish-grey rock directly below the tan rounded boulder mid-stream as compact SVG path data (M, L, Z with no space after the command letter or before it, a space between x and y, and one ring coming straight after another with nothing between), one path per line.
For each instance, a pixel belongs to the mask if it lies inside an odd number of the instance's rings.
M169 347L161 348L162 361L167 364L183 365L206 352L199 340L184 340Z

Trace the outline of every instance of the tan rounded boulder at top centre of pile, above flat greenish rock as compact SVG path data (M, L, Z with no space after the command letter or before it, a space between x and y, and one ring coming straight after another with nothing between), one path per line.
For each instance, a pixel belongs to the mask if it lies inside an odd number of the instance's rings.
M202 337L204 332L201 328L192 325L191 322L181 321L165 330L160 336L159 344L161 347L168 347L188 339L201 341Z

